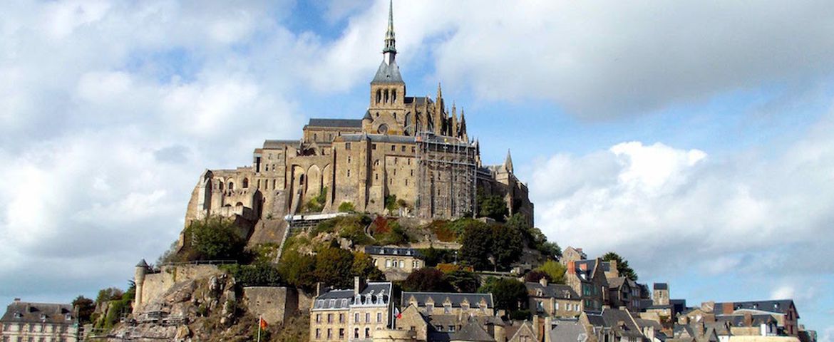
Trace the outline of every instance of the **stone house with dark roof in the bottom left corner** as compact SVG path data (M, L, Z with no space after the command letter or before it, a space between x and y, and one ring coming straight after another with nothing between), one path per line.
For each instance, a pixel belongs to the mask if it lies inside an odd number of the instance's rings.
M78 341L78 317L72 304L45 304L14 299L0 318L0 341Z

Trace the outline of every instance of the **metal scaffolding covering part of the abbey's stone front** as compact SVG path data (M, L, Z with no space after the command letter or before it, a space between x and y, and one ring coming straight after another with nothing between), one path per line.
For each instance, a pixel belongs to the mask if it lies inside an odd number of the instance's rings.
M417 214L427 219L455 219L475 214L475 145L431 132L420 132L415 140Z

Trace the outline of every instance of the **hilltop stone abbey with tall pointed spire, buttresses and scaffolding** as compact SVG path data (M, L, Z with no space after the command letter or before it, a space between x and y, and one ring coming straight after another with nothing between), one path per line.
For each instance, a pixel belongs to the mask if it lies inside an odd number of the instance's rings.
M256 222L352 204L384 214L396 196L400 214L453 219L477 213L477 194L502 196L510 214L533 224L527 186L505 163L485 166L480 144L470 139L463 109L443 98L412 97L396 63L389 11L383 61L370 83L369 107L359 119L311 118L299 140L266 140L252 165L206 170L193 190L186 224L208 215ZM322 203L319 203L322 202ZM318 211L319 208L314 208Z

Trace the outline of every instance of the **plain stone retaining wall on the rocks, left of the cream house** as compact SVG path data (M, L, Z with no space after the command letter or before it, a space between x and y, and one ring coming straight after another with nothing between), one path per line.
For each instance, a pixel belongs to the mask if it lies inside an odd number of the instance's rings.
M244 303L249 312L263 317L267 324L284 322L299 309L296 289L255 286L244 288Z

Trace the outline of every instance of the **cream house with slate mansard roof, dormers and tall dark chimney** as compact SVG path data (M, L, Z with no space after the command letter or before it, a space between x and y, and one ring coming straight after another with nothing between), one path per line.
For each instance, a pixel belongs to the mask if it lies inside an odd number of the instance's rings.
M310 308L310 341L373 339L375 330L389 329L394 304L391 283L368 283L356 277L354 289L319 294Z

